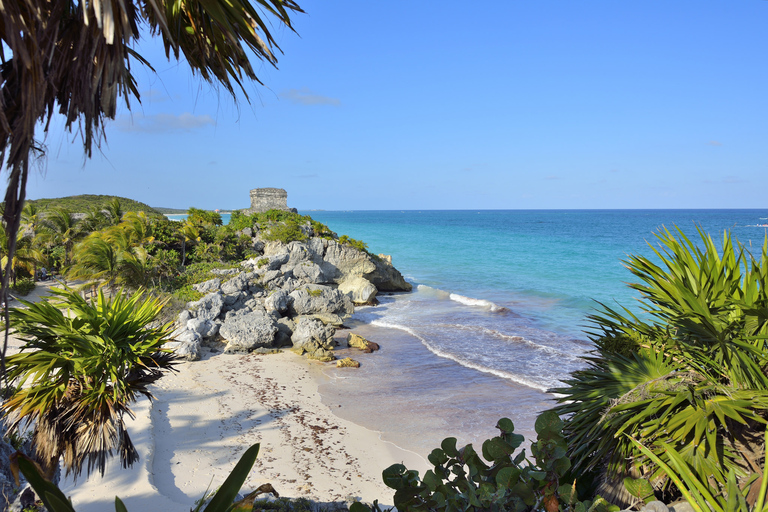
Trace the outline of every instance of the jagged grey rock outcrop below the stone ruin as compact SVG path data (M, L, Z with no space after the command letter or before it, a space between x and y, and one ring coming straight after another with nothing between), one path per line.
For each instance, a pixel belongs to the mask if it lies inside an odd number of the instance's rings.
M247 231L247 232L246 232ZM212 272L216 277L193 285L204 294L178 316L173 348L196 360L206 343L223 343L226 352L294 351L323 361L333 355L335 330L355 305L376 304L380 291L409 291L411 285L391 258L372 256L335 239L309 238L288 244L253 236L261 254L240 269ZM372 351L364 340L359 348Z

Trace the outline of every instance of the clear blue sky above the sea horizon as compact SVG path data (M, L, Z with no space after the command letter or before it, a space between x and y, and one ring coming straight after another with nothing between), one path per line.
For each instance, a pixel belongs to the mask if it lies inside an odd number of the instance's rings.
M236 209L766 208L766 0L298 0L237 102L147 35L91 159L55 120L28 197Z

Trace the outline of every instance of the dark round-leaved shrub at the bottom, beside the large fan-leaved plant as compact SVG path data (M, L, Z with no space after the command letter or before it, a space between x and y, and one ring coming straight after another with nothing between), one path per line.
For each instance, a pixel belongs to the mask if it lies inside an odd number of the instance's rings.
M483 443L482 456L471 444L457 449L456 438L445 439L429 454L434 469L423 479L402 464L385 469L382 476L395 490L395 507L401 512L619 510L599 496L579 501L573 482L564 479L571 464L566 456L563 422L557 414L547 411L536 419L538 438L531 444L535 462L526 458L525 450L515 454L524 439L514 433L512 421L502 418L496 428L500 434ZM351 509L370 510L363 504Z

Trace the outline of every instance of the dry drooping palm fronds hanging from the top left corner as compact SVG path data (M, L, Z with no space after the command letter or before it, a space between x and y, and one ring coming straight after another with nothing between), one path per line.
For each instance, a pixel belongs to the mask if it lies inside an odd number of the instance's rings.
M255 4L255 5L254 5ZM47 133L54 114L82 134L90 157L114 119L118 98L139 100L131 65L149 63L134 45L140 26L162 40L166 55L233 96L258 81L251 56L276 65L271 19L292 29L294 0L28 0L0 8L0 162L8 184L3 221L13 254L26 196L29 165L45 154L35 130ZM269 18L267 18L269 16ZM151 67L151 66L150 66ZM44 137L40 137L42 139ZM3 273L2 294L8 287ZM2 361L0 361L1 363Z

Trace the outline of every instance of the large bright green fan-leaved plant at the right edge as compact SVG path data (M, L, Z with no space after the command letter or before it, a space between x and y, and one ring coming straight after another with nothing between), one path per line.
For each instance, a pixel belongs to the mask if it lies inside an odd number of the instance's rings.
M768 240L756 259L728 233L720 250L699 235L663 230L655 260L629 258L643 317L601 305L595 350L553 390L555 411L567 418L574 474L598 476L603 493L626 476L679 492L664 469L678 453L715 494L728 494L731 474L751 486L751 506L768 416Z

